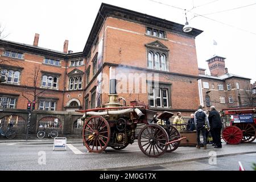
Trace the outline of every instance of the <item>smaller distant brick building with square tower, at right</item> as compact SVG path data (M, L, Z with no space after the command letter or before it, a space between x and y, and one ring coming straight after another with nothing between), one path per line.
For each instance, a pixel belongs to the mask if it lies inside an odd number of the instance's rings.
M206 69L199 68L198 80L200 103L205 110L210 110L211 105L217 110L252 106L249 98L253 97L254 86L250 84L250 78L229 73L225 57L215 55L207 62L210 75L205 75Z

